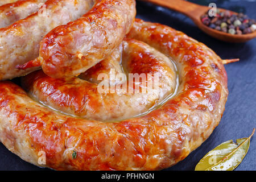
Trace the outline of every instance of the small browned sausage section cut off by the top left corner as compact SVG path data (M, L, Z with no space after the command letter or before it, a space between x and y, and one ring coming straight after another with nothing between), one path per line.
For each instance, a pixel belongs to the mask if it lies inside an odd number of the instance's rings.
M20 0L0 6L0 28L9 26L39 10L46 0Z

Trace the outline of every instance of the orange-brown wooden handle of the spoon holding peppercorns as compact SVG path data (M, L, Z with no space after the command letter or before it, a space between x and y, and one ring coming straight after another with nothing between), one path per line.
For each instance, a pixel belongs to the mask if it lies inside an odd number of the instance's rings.
M183 0L143 0L146 2L151 2L156 5L167 7L169 9L175 10L179 13L187 15L191 19L199 18L203 13L208 10L207 6L197 5L192 2Z

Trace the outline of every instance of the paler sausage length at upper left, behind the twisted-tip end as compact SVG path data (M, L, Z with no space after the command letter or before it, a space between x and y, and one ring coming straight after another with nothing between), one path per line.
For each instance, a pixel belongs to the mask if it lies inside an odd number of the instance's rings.
M60 24L80 18L92 8L92 0L48 0L42 11L0 28L0 80L26 75L36 68L26 71L16 69L39 55L39 44L43 37Z

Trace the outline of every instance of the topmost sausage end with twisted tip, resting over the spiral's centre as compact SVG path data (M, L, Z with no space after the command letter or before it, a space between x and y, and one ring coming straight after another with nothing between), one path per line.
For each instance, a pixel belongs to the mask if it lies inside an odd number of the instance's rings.
M134 0L101 0L75 22L49 32L40 43L38 59L18 68L41 64L54 78L85 72L122 42L135 15Z

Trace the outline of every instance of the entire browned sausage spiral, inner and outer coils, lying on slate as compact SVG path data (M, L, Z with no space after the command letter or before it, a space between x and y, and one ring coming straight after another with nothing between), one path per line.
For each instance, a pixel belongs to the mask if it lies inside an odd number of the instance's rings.
M220 122L228 96L220 57L182 32L139 19L121 46L111 49L112 55L105 53L108 56L93 59L90 67L96 64L94 67L82 69L86 72L80 78L30 73L22 78L30 94L10 81L0 82L1 142L35 165L78 170L162 169L199 147ZM109 73L110 68L117 68L114 74L122 72L117 63L120 57L127 72L160 73L160 97L151 100L139 95L135 99L134 93L99 96L96 77L100 72ZM63 70L60 75L65 75ZM115 80L114 84L120 83ZM170 94L171 98L160 103ZM141 105L140 99L146 104ZM128 104L121 102L127 100ZM152 103L156 104L154 110L135 116L135 109L143 112ZM46 153L46 165L38 164L40 151Z

